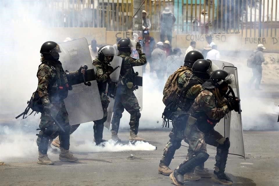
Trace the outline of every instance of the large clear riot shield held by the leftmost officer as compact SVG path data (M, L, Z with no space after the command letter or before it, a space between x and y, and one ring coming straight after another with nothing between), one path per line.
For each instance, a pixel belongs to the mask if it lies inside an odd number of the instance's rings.
M94 69L91 56L85 38L60 43L60 62L64 70L76 71L80 66L87 65L88 69ZM103 109L97 81L90 81L91 86L84 83L72 85L68 97L64 100L69 114L70 125L86 123L103 118Z

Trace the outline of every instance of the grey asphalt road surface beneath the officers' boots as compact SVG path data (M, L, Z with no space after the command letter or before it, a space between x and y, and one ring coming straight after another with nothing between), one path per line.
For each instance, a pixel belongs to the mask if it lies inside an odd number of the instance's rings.
M168 141L168 133L169 129L139 132L141 137L158 147L155 151L74 152L79 158L75 163L59 161L58 154L53 153L49 155L55 161L51 166L37 164L35 154L10 159L6 157L7 165L0 166L0 185L173 185L168 176L158 174L158 163L163 147ZM109 139L109 134L105 132L104 139ZM84 140L90 140L92 135L87 132L82 137L73 137L82 144ZM119 137L127 140L128 132L120 132ZM278 131L244 132L246 160L236 155L229 155L226 166L226 173L234 181L234 185L278 186L278 142ZM182 144L187 145L185 142ZM184 146L176 151L170 165L171 169L183 162L186 153L187 148ZM208 153L210 157L205 167L213 172L215 150L208 149ZM133 158L130 158L130 154L133 154ZM219 184L213 183L210 178L202 178L195 182L187 181L186 185L218 186Z

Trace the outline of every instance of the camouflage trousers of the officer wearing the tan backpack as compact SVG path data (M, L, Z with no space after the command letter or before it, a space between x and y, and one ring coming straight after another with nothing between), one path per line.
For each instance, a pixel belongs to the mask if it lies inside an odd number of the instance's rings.
M169 142L167 142L166 146L163 150L162 159L160 160L159 166L169 166L172 158L174 157L174 153L181 146L181 141L183 140L183 132L186 127L188 115L183 111L174 112L174 118L172 119L173 128L169 133Z

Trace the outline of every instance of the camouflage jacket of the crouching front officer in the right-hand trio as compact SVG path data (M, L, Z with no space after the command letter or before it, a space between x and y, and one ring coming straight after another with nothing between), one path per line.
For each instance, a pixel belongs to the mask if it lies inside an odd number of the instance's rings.
M209 121L213 127L229 112L226 98L216 92L216 89L202 90L189 110L189 114L198 122Z

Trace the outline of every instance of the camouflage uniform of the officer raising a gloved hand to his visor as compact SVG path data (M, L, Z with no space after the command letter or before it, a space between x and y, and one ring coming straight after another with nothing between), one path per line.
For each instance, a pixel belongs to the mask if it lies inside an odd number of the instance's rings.
M113 107L113 117L112 117L112 130L118 133L120 119L122 117L122 113L124 112L124 108L127 112L129 112L130 116L130 130L132 130L135 134L138 132L139 128L139 119L140 119L140 106L137 101L137 98L133 91L135 90L135 86L128 87L129 84L133 82L133 77L135 76L135 72L133 70L134 66L142 66L146 64L146 56L142 51L138 50L139 59L134 59L130 57L130 53L125 53L123 51L119 51L118 56L124 58L124 64L121 66L120 78L123 77L126 73L126 76L119 83L119 87L117 87L117 93L115 97L115 103Z

